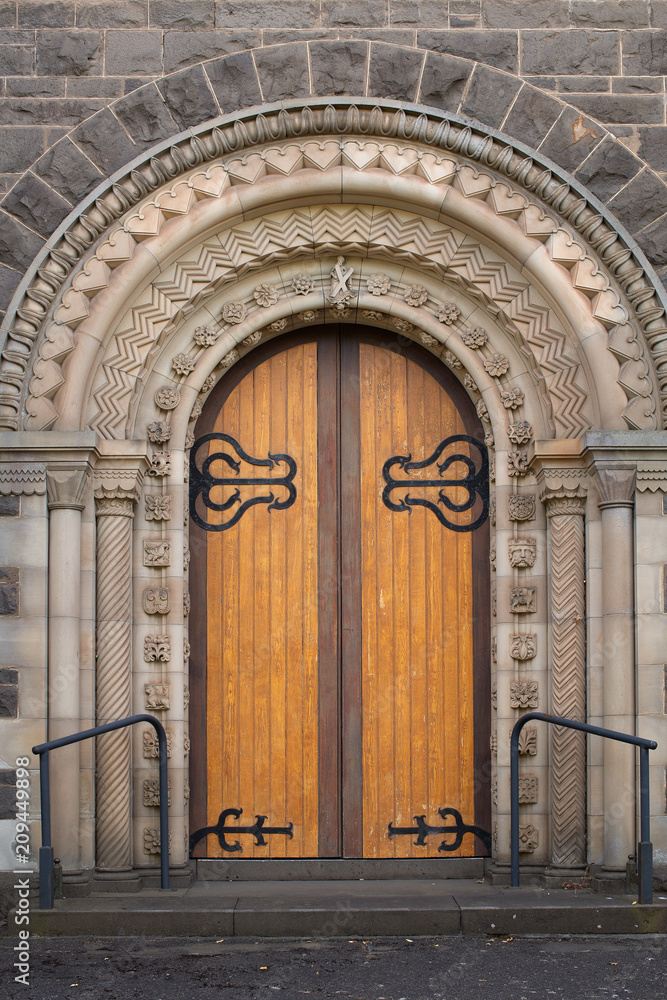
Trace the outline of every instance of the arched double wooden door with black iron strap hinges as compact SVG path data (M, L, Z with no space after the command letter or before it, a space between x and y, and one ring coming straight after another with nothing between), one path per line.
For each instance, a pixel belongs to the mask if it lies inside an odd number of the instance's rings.
M482 436L432 355L360 327L218 384L190 463L193 856L490 851Z

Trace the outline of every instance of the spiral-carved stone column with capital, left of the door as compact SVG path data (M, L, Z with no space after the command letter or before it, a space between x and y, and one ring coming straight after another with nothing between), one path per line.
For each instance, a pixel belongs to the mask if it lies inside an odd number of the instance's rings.
M97 500L97 724L131 715L132 518L135 496ZM130 731L97 740L97 867L131 866Z

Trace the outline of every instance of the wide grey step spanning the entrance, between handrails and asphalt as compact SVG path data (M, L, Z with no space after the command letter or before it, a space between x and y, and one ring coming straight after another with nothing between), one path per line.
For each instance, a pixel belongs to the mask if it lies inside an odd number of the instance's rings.
M33 909L38 935L379 937L451 934L656 934L667 899L510 889L468 880L199 882L190 889L100 893ZM15 935L14 913L7 933Z

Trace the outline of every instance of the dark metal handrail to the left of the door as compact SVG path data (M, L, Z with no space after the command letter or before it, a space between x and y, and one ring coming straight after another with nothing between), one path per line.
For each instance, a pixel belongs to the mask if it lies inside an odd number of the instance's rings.
M111 733L114 729L133 726L137 722L150 722L155 729L160 753L160 888L169 889L169 814L167 796L167 737L159 719L153 715L131 715L117 722L107 722L104 726L85 729L71 736L63 736L58 740L49 740L33 747L32 752L39 755L39 796L42 812L42 846L39 849L39 907L42 910L52 910L55 893L54 886L54 854L51 845L51 798L49 789L49 751L58 747L69 746L70 743L80 743L102 733Z

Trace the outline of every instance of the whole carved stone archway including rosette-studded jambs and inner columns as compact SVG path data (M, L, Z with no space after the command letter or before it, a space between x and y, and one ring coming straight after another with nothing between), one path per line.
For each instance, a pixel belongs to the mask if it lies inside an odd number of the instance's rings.
M257 343L315 321L389 327L439 357L474 399L495 451L494 777L503 857L504 733L516 709L585 712L582 473L566 462L558 482L546 477L545 512L529 448L591 428L662 428L664 312L612 219L537 157L454 118L337 103L202 130L86 206L26 284L3 356L3 419L24 431L91 428L98 436L98 588L103 580L123 591L128 626L113 655L98 659L98 712L108 690L102 714L129 711L132 684L135 707L145 692L146 706L166 713L183 834L190 608L181 511L184 455L203 400ZM332 273L341 258L342 284ZM552 631L551 646L548 545L565 581L558 600L575 616L567 635ZM140 741L135 752L152 755ZM536 773L525 849L540 861L581 864L581 745L555 745L553 826L546 741L527 753ZM126 752L104 766L121 787L113 815L98 816L98 850L109 845L105 866L123 868L131 845L116 851L114 831L130 815ZM149 764L135 768L134 780L150 782L151 773ZM145 825L152 805L150 794L143 809L135 799L135 859L154 853ZM176 833L176 861L182 843Z

